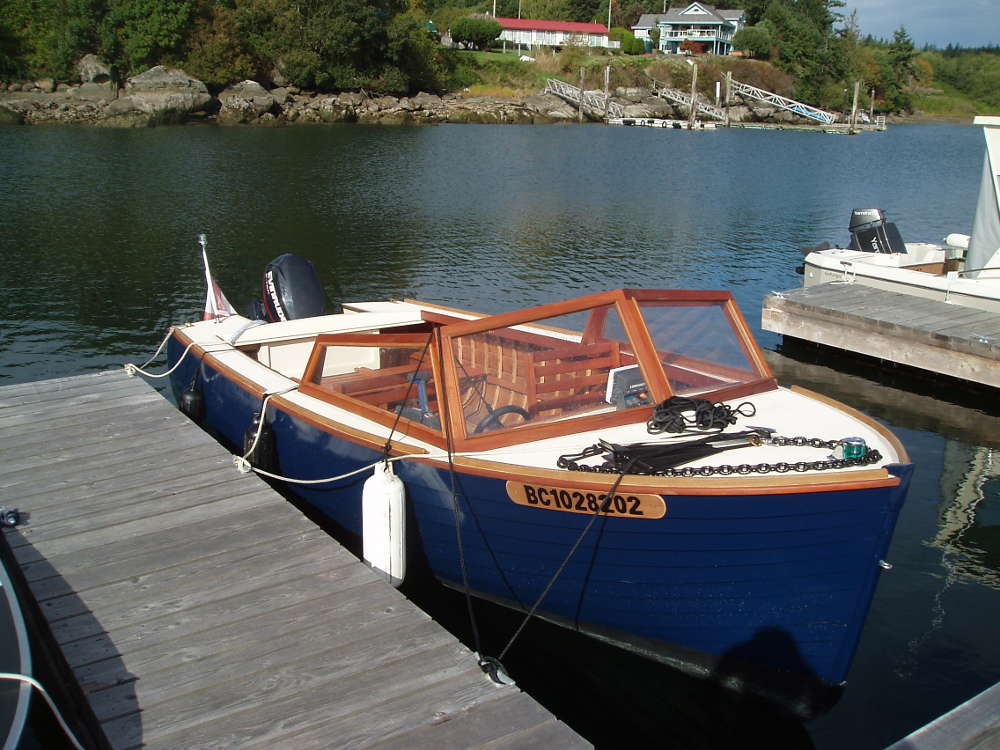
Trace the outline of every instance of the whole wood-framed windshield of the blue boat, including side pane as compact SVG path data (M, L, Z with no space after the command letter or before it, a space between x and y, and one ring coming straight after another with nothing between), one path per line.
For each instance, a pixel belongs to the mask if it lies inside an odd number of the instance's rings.
M670 396L775 387L725 292L616 290L425 326L318 336L300 391L461 450L644 421Z

